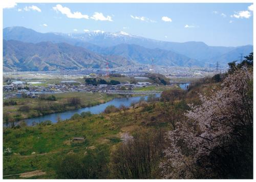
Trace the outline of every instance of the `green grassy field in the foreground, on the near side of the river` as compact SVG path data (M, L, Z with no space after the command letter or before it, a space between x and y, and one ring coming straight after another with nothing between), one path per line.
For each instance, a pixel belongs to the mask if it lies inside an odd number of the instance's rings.
M136 120L135 117L140 119ZM12 154L4 156L4 178L20 178L11 174L35 170L46 174L31 178L56 178L54 165L61 155L69 152L84 155L87 150L98 147L112 151L124 132L147 127L143 124L147 118L148 112L137 108L125 113L92 115L46 126L7 128L4 131L4 149L11 148ZM85 137L86 141L74 144L71 142L73 137Z

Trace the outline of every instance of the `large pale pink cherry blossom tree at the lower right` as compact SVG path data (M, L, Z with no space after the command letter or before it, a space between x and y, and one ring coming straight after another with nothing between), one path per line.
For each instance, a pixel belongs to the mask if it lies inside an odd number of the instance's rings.
M166 134L164 178L252 178L253 73L241 68L218 91L200 94L187 119Z

